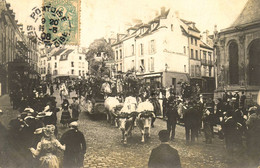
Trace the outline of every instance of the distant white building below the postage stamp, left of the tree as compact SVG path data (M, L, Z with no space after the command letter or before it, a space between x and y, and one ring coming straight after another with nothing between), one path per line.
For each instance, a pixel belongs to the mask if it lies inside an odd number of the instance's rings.
M88 72L85 53L77 46L43 49L40 59L41 79L53 80L61 76L83 77Z

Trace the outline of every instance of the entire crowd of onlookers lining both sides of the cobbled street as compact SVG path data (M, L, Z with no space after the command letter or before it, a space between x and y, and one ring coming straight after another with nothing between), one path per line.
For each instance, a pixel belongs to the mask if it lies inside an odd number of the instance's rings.
M118 96L123 102L126 96L131 95L136 97L138 102L149 100L153 104L155 116L161 116L167 123L170 140L174 141L176 125L180 123L185 127L187 145L196 143L202 131L205 143L211 144L214 138L213 128L220 125L219 138L225 140L226 149L230 154L246 150L252 162L259 162L260 136L256 133L260 131L259 105L247 107L244 92L225 92L222 98L214 102L213 99L205 99L202 95L192 98L176 96L172 87L151 87L139 82L133 77L116 81L95 77L57 81L55 84L62 101L61 108L57 107L56 97L53 96L52 83L42 83L26 95L23 95L22 90L15 94L11 92L11 104L21 113L9 123L8 143L15 151L10 157L15 158L17 165L52 164L53 167L58 167L62 162L59 160L60 157L57 157L60 149L65 150L64 167L82 166L86 142L84 135L77 129L76 121L81 112L77 100L81 100L82 97L89 100ZM73 102L70 104L68 100L72 91L75 91L77 96L72 97ZM63 127L71 128L60 140L57 129L58 112L61 112L60 123ZM152 119L152 127L155 119ZM75 144L78 145L75 147ZM18 156L17 153L23 153L23 156Z

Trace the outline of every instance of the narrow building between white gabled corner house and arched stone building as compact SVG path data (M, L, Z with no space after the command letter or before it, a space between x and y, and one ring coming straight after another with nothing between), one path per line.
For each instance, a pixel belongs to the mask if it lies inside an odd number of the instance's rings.
M209 37L208 31L201 35L194 22L184 19L181 21L189 44L184 50L189 55L190 85L198 85L202 94L213 96L215 90L213 39Z

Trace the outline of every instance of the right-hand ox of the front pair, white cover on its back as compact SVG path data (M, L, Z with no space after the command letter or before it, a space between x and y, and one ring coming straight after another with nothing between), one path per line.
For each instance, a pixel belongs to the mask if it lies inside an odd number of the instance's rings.
M155 117L153 104L149 101L142 102L138 105L137 112L139 114L136 123L142 134L141 142L144 142L145 136L150 137L151 121L152 117Z

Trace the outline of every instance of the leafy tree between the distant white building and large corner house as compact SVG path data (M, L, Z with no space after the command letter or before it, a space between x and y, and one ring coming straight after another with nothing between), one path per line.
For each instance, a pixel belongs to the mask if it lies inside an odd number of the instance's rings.
M103 54L105 57L101 60L95 59L95 55ZM89 45L89 50L86 54L86 59L89 62L90 73L95 75L102 75L103 72L107 72L105 60L113 59L114 52L111 45L106 41L106 39L96 39Z

